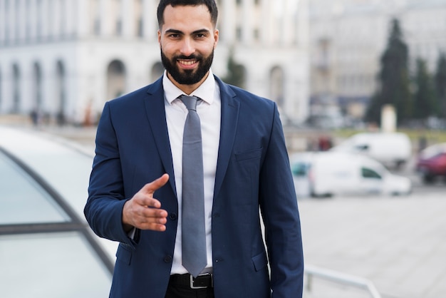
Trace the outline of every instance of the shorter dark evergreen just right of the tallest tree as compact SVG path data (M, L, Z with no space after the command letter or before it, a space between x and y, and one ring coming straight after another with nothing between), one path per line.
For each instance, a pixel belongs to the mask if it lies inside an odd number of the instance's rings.
M413 118L425 120L429 116L437 115L435 85L432 76L427 71L426 62L420 58L417 60L413 99Z

